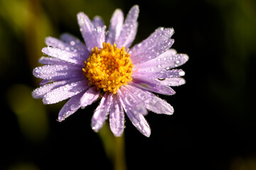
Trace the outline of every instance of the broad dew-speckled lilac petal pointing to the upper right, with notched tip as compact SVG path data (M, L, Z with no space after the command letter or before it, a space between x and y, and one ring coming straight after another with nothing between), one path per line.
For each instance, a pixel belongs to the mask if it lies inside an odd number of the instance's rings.
M170 39L173 34L173 28L156 29L154 33L149 35L149 38L134 45L129 51L132 62L134 64L146 62L166 52L174 44L174 40Z

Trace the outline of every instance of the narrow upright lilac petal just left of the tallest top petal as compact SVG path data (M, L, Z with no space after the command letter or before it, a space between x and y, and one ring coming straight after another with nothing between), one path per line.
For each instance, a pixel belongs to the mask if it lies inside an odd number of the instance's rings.
M110 44L114 44L114 42L117 41L117 38L119 38L119 35L122 30L122 25L124 22L124 13L122 13L121 10L117 9L114 11L112 18L110 20L110 30L107 36L107 42L110 42Z

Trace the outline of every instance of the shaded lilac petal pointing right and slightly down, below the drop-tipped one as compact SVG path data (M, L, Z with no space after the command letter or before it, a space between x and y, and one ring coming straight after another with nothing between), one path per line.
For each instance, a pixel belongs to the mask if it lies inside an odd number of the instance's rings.
M159 81L154 79L137 79L133 78L132 82L130 83L132 86L137 86L141 89L145 89L147 91L153 91L158 94L165 94L165 95L174 95L174 89L171 87L161 84Z

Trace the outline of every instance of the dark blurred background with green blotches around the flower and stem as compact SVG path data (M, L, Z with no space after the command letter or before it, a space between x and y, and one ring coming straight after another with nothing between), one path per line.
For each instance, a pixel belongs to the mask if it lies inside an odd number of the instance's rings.
M127 119L127 169L256 169L254 0L0 0L0 169L113 169L111 152L90 128L97 103L59 123L65 101L33 99L39 80L32 70L46 36L68 32L82 40L78 12L109 26L115 8L127 14L134 4L134 44L159 26L174 27L173 47L190 59L181 67L186 84L161 96L174 115L146 115L151 137Z

